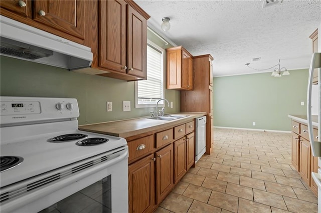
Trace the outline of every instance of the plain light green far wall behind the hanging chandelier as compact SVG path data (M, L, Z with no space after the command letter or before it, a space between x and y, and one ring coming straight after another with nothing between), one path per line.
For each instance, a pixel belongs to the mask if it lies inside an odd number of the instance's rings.
M291 130L287 115L306 114L308 69L289 72L214 77L214 126Z

